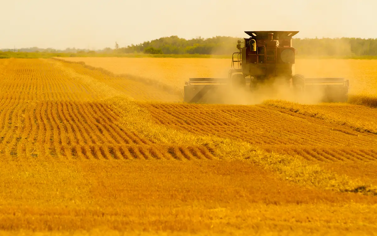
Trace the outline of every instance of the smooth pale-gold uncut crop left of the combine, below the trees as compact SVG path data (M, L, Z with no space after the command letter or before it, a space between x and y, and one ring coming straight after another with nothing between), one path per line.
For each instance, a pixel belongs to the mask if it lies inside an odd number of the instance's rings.
M115 74L127 74L158 80L176 88L183 88L190 77L228 76L229 59L205 58L64 58L70 62L84 62Z

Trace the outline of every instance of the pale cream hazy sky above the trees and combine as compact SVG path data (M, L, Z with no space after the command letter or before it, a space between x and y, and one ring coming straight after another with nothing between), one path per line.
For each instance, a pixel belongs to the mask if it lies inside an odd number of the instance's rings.
M377 0L0 0L0 48L102 49L178 35L377 38Z

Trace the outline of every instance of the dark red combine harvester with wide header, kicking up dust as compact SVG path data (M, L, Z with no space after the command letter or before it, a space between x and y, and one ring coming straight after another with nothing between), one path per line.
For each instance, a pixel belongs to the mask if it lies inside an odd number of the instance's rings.
M292 37L299 31L245 31L232 56L227 79L190 78L184 86L184 102L226 103L233 91L256 93L259 86L283 83L290 93L319 96L321 102L346 102L349 81L344 78L307 78L294 73L296 49ZM241 43L243 47L241 47ZM237 90L238 89L238 90ZM311 95L310 95L311 94Z

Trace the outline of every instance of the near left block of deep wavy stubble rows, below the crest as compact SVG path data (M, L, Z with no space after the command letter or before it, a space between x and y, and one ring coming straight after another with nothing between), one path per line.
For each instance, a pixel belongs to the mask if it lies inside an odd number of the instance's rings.
M0 153L82 159L213 159L206 147L153 144L117 124L121 114L99 102L0 103Z

